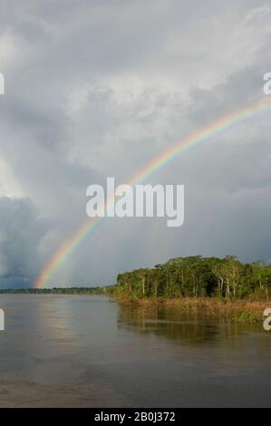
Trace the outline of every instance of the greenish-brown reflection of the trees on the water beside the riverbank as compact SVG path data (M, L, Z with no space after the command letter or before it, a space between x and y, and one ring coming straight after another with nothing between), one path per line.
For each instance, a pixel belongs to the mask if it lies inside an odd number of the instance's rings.
M182 310L178 305L120 305L121 329L164 337L175 344L218 345L235 341L244 333L264 333L262 324L242 324L225 317L209 317L204 311ZM241 339L237 339L241 342Z

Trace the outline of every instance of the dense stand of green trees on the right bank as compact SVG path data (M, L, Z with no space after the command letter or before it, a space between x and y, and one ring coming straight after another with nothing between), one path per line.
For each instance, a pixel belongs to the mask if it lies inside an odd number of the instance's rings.
M237 257L179 257L154 268L120 274L111 293L131 297L268 299L271 265Z

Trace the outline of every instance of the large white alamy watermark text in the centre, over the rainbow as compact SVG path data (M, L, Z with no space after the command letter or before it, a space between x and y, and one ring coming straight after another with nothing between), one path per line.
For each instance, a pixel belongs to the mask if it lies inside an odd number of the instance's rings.
M168 218L167 226L180 227L184 222L184 185L119 185L107 178L106 193L102 185L86 190L86 213L90 218Z

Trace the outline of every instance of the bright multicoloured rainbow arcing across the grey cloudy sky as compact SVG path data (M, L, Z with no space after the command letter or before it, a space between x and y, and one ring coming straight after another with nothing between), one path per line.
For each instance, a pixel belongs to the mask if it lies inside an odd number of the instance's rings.
M264 100L254 102L247 105L245 108L238 111L231 112L226 116L219 118L217 121L209 123L203 129L196 131L189 135L184 140L171 146L168 150L163 151L154 160L151 160L147 165L140 169L128 182L127 184L133 187L140 181L150 178L157 170L167 165L170 160L175 159L180 154L183 154L189 148L196 147L210 138L217 136L227 129L231 129L237 124L247 121L253 117L256 117L271 109L270 98L266 96ZM111 208L114 203L114 199L110 200L106 208ZM72 237L67 239L63 245L54 253L51 260L44 266L41 274L38 276L35 282L35 288L42 288L49 283L49 280L53 276L53 273L63 265L66 258L73 253L82 241L92 232L94 228L102 221L103 218L92 218L87 220L81 228L79 228Z

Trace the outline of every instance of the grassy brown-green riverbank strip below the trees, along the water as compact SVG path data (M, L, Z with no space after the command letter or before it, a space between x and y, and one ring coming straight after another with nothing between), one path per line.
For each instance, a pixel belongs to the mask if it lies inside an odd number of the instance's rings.
M177 305L179 309L198 312L202 311L210 317L226 316L228 319L244 322L259 322L263 319L263 313L270 302L243 300L227 300L218 298L163 298L163 297L122 297L116 296L120 305L137 305L151 309L158 305Z

